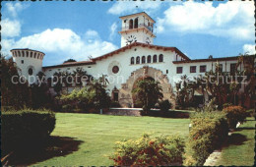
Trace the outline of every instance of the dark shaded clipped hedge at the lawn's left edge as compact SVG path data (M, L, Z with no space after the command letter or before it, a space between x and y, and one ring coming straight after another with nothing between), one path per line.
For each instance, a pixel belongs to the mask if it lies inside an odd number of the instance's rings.
M41 145L55 128L55 114L47 110L2 112L2 151L33 148Z

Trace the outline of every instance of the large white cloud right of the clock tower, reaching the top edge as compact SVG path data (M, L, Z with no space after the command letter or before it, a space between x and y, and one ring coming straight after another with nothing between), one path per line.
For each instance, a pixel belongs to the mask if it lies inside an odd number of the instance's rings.
M187 1L164 11L164 17L158 18L158 32L204 33L252 40L254 9L253 1L228 1L217 7L213 2Z

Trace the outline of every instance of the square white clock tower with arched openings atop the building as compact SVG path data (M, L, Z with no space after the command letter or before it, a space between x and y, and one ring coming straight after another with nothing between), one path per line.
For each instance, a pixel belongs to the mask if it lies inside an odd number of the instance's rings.
M153 44L154 24L156 23L147 13L141 12L120 17L122 20L121 47L133 42Z

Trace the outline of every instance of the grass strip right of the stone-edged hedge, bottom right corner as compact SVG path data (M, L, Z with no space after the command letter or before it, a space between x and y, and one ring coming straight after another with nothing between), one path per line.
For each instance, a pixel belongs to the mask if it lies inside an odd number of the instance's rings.
M247 120L227 140L227 145L223 148L221 158L216 166L253 166L256 121L252 117Z

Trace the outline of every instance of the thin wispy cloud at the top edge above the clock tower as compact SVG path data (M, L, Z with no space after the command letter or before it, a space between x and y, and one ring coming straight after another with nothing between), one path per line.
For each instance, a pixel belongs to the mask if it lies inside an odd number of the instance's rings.
M161 1L118 1L108 9L109 14L120 15L124 13L136 13L139 10L147 13L154 12L160 8Z

